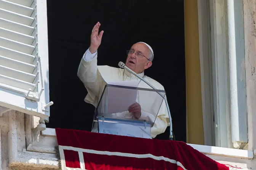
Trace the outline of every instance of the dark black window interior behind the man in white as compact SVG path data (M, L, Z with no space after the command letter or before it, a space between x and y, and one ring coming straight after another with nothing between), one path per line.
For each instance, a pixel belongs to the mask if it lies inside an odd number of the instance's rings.
M175 139L186 142L186 77L184 5L182 0L62 0L47 1L50 73L50 122L48 128L91 131L93 105L77 77L77 68L90 46L96 22L104 30L98 65L118 67L126 50L139 41L154 50L154 61L145 74L166 90ZM157 139L167 140L169 128Z

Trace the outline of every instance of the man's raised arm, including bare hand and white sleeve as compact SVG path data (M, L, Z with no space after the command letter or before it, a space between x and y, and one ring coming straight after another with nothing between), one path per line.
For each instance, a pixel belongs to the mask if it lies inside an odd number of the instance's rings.
M104 87L104 80L99 74L97 68L97 50L101 44L103 31L99 33L100 23L94 25L91 32L91 44L88 50L83 55L80 65L78 67L77 76L85 85L88 94L85 101L96 106L98 98Z

